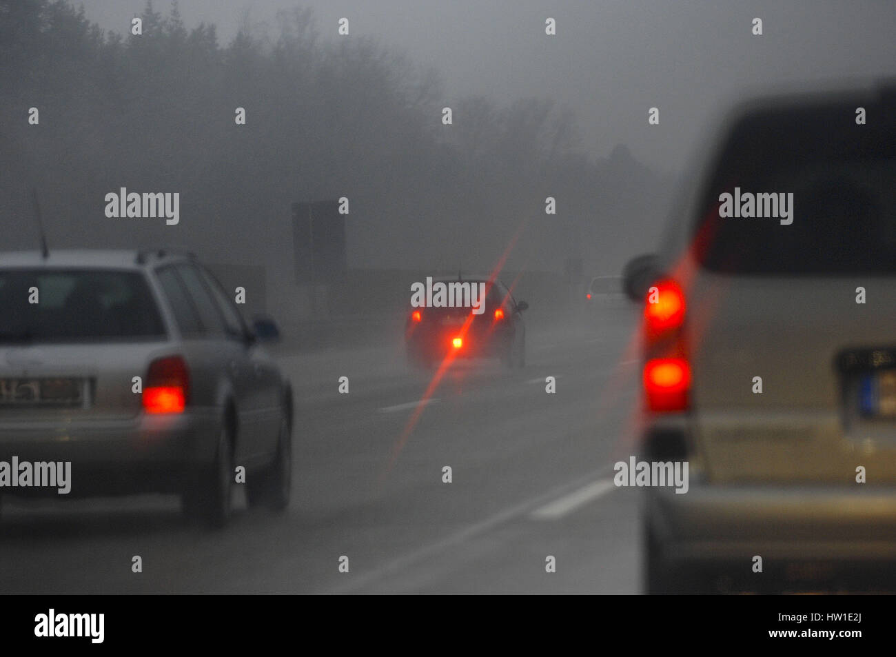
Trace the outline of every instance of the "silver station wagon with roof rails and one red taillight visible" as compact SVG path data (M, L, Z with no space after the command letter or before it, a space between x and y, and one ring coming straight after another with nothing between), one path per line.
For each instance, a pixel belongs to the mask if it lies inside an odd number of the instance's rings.
M250 330L190 255L2 254L0 461L71 462L73 497L176 493L217 526L241 465L249 504L281 510L292 396L263 348L278 335Z

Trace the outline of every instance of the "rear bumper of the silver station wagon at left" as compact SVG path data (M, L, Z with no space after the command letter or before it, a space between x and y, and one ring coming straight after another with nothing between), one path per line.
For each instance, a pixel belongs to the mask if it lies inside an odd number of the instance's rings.
M0 423L0 462L71 462L68 496L179 492L185 478L211 465L220 413L193 409L177 415L65 424ZM57 495L57 488L4 485L0 494Z

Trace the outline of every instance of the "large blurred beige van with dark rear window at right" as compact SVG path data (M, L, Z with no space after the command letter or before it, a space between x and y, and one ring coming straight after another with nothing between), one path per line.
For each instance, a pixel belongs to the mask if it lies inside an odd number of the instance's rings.
M747 105L689 178L644 303L643 454L690 467L647 488L648 592L893 585L896 123L855 121L892 99Z

